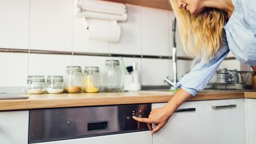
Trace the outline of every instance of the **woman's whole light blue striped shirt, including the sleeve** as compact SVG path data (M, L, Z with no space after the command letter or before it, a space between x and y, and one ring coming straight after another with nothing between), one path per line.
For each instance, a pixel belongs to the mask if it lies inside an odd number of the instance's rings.
M193 96L206 87L229 51L242 63L256 67L256 3L255 0L232 0L235 9L224 26L223 44L209 63L200 63L177 83Z

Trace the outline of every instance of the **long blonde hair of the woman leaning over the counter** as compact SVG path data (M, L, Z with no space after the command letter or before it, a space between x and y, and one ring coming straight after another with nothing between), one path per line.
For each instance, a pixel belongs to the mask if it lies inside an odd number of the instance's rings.
M226 14L221 10L206 8L198 15L192 15L183 8L178 8L178 0L169 0L175 12L182 45L187 55L202 57L207 61L212 54L216 56L222 45L223 26Z

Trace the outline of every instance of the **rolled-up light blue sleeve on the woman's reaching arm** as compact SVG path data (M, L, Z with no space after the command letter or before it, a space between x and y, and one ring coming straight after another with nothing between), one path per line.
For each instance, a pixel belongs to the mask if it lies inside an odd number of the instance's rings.
M195 65L191 72L187 73L177 83L176 87L183 88L192 96L206 87L208 81L213 77L220 63L229 53L228 43L224 43L218 50L216 56L211 56L209 62L203 56L200 63Z

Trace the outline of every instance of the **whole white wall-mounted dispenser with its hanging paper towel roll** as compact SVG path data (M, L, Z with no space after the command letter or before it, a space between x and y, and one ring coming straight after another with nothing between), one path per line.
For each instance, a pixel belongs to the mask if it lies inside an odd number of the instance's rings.
M127 8L123 3L100 0L80 0L79 16L85 17L89 39L117 43L121 37L118 21L127 20Z

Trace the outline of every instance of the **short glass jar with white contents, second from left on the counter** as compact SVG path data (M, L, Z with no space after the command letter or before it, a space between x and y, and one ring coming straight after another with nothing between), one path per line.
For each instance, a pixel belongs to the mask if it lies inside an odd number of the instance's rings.
M60 94L63 92L64 83L63 76L48 76L47 77L47 92L49 94Z

